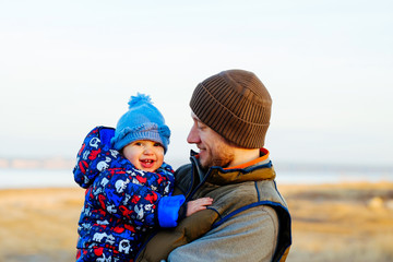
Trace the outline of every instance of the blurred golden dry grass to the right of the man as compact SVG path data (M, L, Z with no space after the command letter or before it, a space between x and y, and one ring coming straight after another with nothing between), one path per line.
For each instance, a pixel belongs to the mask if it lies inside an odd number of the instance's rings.
M279 189L293 216L287 261L393 261L393 183Z

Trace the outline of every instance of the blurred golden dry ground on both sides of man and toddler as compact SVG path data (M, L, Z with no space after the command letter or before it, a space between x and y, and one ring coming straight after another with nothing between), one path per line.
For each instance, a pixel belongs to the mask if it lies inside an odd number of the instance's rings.
M287 261L393 261L393 183L282 184ZM0 261L74 261L82 189L0 190Z

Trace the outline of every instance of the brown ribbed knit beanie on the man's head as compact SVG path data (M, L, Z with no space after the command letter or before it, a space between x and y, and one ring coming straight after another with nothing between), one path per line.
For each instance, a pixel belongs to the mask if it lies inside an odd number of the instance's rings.
M206 79L195 87L190 107L202 122L236 145L263 147L272 98L252 72L227 70Z

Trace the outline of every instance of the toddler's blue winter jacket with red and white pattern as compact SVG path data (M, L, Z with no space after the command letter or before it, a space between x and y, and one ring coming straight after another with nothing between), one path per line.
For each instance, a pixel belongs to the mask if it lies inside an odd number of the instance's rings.
M74 180L86 193L76 248L107 248L133 258L150 228L177 225L184 196L168 196L174 189L169 165L156 172L136 169L111 148L114 134L112 128L93 129L78 153Z

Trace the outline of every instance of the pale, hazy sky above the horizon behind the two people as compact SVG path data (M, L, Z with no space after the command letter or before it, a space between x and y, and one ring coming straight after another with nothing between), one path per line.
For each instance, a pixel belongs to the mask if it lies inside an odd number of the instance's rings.
M193 88L243 69L273 162L391 166L392 28L389 0L1 1L0 157L75 157L144 93L186 163Z

